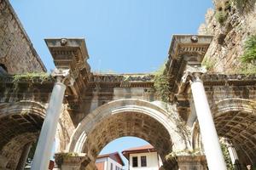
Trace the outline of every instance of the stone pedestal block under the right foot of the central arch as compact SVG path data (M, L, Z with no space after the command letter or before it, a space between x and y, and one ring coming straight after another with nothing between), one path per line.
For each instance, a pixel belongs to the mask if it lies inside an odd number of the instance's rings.
M178 170L207 170L205 156L177 156Z

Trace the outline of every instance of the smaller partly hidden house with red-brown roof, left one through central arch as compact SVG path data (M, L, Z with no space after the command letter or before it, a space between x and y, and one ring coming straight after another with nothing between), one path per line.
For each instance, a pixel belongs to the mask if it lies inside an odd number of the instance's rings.
M98 170L123 170L124 161L118 152L97 156L96 167Z

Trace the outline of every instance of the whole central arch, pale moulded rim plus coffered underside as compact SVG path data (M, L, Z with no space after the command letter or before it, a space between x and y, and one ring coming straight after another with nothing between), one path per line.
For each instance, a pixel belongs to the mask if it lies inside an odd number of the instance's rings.
M103 147L113 139L135 136L158 150L163 161L172 150L190 148L179 133L175 111L139 99L119 99L102 105L84 118L75 129L69 152L86 153L94 162Z

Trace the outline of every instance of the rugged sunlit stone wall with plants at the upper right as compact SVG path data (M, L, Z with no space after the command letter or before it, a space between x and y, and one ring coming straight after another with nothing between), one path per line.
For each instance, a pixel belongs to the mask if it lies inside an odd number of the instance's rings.
M214 0L215 9L208 9L206 21L199 28L199 34L214 36L205 57L205 65L210 71L239 72L244 42L256 34L255 0L247 0L242 7L234 2L236 0ZM223 22L218 20L220 12L225 14Z

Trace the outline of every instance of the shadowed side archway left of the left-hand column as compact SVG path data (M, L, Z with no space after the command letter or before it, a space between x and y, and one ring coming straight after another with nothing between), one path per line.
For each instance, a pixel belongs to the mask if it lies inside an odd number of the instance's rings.
M45 108L38 102L20 101L0 104L0 113L0 168L16 169L25 145L38 139Z

